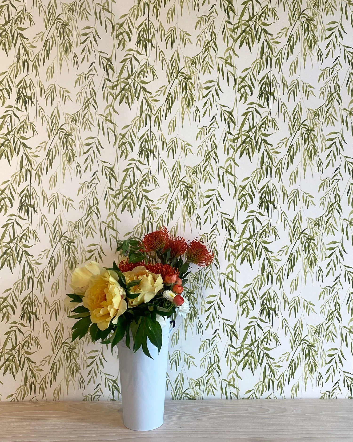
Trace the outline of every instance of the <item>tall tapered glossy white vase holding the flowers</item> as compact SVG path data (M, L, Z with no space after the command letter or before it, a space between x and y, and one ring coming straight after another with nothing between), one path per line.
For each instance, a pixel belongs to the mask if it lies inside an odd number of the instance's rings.
M118 343L124 425L131 430L154 430L163 423L170 331L168 318L162 328L163 340L159 354L157 347L147 339L153 359L143 353L142 347L134 353L126 347L125 339ZM131 349L132 346L131 337Z

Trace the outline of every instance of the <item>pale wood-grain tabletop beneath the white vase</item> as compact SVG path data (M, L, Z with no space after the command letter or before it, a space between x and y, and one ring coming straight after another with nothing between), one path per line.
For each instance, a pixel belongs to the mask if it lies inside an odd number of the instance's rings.
M353 400L176 400L154 431L124 427L120 402L0 403L1 442L353 442Z

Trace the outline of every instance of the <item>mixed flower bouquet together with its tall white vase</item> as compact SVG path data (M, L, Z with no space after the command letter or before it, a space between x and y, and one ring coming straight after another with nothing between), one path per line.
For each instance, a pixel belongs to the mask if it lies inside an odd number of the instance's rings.
M190 265L207 267L214 255L165 227L116 250L126 259L110 268L92 262L72 274L72 341L89 333L92 342L118 346L124 424L151 430L163 423L170 318L189 312Z

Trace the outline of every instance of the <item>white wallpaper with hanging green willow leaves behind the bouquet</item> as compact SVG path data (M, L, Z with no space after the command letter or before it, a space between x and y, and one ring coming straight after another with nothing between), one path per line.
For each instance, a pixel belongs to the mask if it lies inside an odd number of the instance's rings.
M71 343L86 261L166 225L214 249L167 394L351 397L351 0L1 0L1 400L118 399ZM132 232L132 233L131 233Z

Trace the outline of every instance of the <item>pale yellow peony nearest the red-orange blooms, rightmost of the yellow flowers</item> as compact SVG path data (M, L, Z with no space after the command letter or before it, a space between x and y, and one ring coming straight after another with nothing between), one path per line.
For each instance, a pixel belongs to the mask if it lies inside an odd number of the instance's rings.
M131 293L139 293L135 299L129 299L129 307L136 307L143 302L149 302L163 288L163 279L160 274L155 274L140 266L132 269L131 272L124 272L126 284L131 281L140 280L137 286L130 289Z

